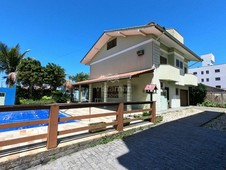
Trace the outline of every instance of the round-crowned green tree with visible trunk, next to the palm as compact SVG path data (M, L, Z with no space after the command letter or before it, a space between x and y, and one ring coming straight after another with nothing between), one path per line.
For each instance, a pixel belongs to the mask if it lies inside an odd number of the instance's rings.
M30 98L33 96L34 87L41 87L43 84L43 70L41 63L33 58L22 59L18 66L18 84L29 86Z

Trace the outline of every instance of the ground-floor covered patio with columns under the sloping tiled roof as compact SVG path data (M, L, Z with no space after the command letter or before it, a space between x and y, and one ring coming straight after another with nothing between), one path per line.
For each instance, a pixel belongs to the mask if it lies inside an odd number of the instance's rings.
M130 102L146 100L146 84L151 83L154 68L122 74L101 76L76 82L79 102L84 102L83 88L88 89L88 102ZM150 74L151 73L151 74Z

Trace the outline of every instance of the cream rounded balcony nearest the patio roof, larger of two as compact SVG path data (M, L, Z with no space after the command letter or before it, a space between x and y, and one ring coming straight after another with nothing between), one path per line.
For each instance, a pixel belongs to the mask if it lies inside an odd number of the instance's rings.
M171 65L161 64L158 69L158 78L165 81L178 82L180 80L180 70Z

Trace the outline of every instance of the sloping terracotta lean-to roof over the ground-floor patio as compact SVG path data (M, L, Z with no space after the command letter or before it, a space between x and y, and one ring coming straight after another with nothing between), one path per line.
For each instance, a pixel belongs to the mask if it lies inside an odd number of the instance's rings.
M153 71L154 71L154 68L150 68L150 69L133 71L133 72L122 73L122 74L111 75L111 76L101 76L99 78L95 78L95 79L91 79L91 80L76 82L75 84L73 84L73 86L87 85L87 84L106 82L106 81L116 81L116 80L120 80L120 79L127 79L127 78L132 78L134 76L138 76L140 74L149 73L149 72L153 72Z

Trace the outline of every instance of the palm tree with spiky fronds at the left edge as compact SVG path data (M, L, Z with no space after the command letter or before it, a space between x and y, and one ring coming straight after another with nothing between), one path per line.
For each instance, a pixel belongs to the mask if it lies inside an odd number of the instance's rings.
M7 45L0 42L0 72L5 72L6 84L12 87L16 82L17 66L27 52L20 53L20 45L8 48Z

